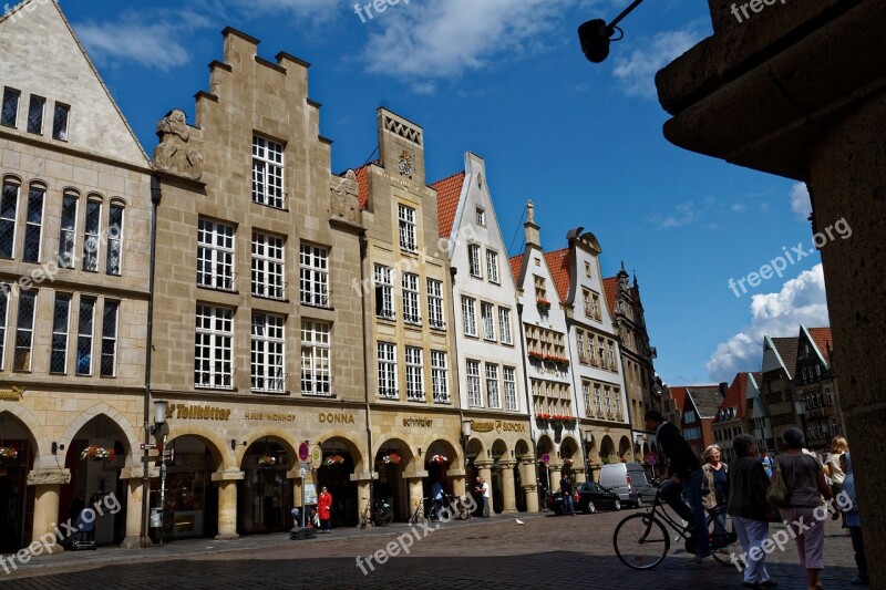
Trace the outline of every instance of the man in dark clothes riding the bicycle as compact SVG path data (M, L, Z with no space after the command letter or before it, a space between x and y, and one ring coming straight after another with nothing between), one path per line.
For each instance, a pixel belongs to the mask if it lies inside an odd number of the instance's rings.
M669 480L661 486L661 498L680 515L680 518L689 522L687 528L696 538L696 555L699 559L703 559L711 555L711 548L702 503L701 463L692 453L689 443L680 436L677 426L666 421L659 412L650 410L646 413L646 428L655 432L658 447L668 457ZM689 506L680 499L683 490Z

